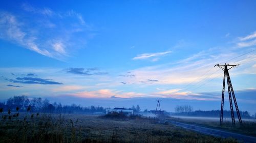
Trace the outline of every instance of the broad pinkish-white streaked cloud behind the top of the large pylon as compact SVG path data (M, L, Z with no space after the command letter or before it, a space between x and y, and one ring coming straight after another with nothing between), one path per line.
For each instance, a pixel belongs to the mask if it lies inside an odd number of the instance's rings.
M255 56L252 52L244 55L244 53L247 53L251 49L241 50L240 48L233 47L236 47L236 45L200 51L188 58L172 61L171 63L130 70L136 75L136 78L126 79L125 81L133 84L141 84L141 81L145 81L146 79L158 79L159 82L153 82L152 84L158 86L166 84L176 86L183 85L183 87L184 84L196 84L199 82L199 84L195 86L196 88L202 85L204 83L203 81L222 79L222 71L218 68L214 68L214 65L225 62L241 64L241 67L232 69L236 70L236 72L232 73L234 76L255 74L255 69L253 68L253 64L256 61ZM227 50L228 54L226 54Z

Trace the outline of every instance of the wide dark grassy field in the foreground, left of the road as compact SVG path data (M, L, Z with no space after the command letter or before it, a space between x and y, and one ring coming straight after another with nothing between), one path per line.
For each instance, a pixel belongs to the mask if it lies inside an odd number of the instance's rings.
M25 120L24 120L25 119ZM157 124L153 119L103 119L88 115L20 114L1 120L0 142L236 142Z

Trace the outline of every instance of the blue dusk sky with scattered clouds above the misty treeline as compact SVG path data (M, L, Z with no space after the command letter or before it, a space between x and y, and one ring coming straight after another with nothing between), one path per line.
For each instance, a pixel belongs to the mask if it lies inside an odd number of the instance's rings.
M149 109L162 99L169 111L178 104L219 109L223 71L214 65L229 63L240 64L229 71L240 110L256 112L255 7L255 1L2 2L0 99Z

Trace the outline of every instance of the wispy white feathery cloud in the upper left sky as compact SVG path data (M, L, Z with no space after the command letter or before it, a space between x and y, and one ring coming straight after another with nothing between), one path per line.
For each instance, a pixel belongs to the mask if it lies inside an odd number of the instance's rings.
M54 59L64 60L74 47L83 47L92 30L73 10L54 12L29 4L22 9L21 13L0 12L0 38Z

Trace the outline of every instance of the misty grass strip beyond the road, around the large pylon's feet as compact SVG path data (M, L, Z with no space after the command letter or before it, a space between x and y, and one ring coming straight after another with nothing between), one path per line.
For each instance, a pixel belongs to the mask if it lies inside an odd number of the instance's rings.
M239 125L238 120L236 120L236 127L232 127L231 119L224 119L223 125L220 126L219 118L201 118L201 117L171 117L170 120L175 120L184 123L193 123L198 125L203 125L207 127L220 128L232 132L242 133L246 135L256 136L256 121L252 119L244 119L243 126Z

